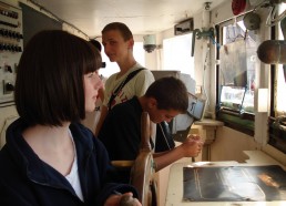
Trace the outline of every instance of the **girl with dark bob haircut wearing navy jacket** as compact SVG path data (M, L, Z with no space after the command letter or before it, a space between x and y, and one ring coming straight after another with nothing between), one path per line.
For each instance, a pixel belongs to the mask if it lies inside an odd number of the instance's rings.
M111 182L105 147L79 123L95 107L101 63L93 45L65 31L29 41L16 81L20 117L0 151L0 205L141 206L134 187Z

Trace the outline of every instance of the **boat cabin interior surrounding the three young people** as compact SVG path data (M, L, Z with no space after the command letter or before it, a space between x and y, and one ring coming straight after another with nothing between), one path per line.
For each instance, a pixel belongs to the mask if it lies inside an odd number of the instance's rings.
M0 0L0 148L19 117L17 65L31 37L60 29L102 42L118 21L131 29L140 64L187 87L187 112L168 125L176 145L188 134L205 142L198 157L154 174L156 204L285 205L285 0ZM120 69L102 48L106 80ZM98 117L83 123L94 131Z

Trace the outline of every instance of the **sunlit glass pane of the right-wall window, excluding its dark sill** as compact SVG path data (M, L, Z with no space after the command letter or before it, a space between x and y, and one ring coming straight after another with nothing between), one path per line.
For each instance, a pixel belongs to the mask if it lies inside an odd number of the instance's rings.
M254 113L256 35L243 21L223 28L219 50L221 107ZM239 68L235 68L239 66Z

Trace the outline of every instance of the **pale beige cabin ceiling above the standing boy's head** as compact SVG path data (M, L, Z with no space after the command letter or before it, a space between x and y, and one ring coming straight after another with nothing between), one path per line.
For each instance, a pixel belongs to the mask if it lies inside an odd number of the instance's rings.
M206 0L211 8L225 0ZM204 10L202 0L37 0L88 37L101 35L113 21L126 23L134 34L156 33Z

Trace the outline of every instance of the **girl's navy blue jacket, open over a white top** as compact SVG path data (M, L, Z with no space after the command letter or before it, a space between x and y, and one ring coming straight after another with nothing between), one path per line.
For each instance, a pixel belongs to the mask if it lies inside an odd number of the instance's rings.
M90 130L71 124L84 203L54 168L42 162L22 137L28 125L19 119L7 130L7 144L0 152L0 205L10 206L101 206L114 193L136 190L108 183L112 171L108 153Z

